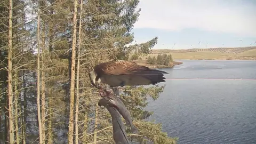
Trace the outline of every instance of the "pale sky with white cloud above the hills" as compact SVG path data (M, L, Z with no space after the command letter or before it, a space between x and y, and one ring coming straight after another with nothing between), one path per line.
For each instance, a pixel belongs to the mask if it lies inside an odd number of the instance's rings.
M255 0L140 0L136 43L153 49L256 46Z

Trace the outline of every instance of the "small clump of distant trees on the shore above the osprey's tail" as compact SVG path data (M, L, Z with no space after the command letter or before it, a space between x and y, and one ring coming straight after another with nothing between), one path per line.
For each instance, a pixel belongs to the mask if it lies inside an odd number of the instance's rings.
M149 65L165 65L165 66L170 66L171 62L173 61L172 55L169 54L158 54L157 57L148 57L147 58L147 64Z

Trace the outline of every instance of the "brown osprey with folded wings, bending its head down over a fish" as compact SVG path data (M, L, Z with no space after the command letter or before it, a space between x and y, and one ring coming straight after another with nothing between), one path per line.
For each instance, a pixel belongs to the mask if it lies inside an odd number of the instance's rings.
M125 60L100 63L94 67L93 71L89 72L94 86L99 87L100 83L105 83L112 88L125 85L155 85L156 83L165 82L163 74L169 73ZM98 85L96 85L96 82Z

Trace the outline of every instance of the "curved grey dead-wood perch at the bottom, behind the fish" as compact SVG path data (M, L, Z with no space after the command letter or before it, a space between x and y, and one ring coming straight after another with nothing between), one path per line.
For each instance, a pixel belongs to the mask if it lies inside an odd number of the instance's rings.
M98 106L106 107L112 117L114 141L118 144L129 144L121 115L119 114L118 110L115 107L111 107L111 105L112 104L110 101L105 98L100 99L98 102Z

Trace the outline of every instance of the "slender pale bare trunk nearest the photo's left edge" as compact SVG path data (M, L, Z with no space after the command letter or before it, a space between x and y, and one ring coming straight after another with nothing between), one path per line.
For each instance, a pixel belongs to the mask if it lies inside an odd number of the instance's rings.
M9 6L9 42L8 42L8 47L9 47L9 52L8 52L8 98L9 98L9 133L10 133L10 143L14 143L14 126L13 126L13 88L12 88L12 15L13 15L13 3L12 0L9 1L10 6Z

